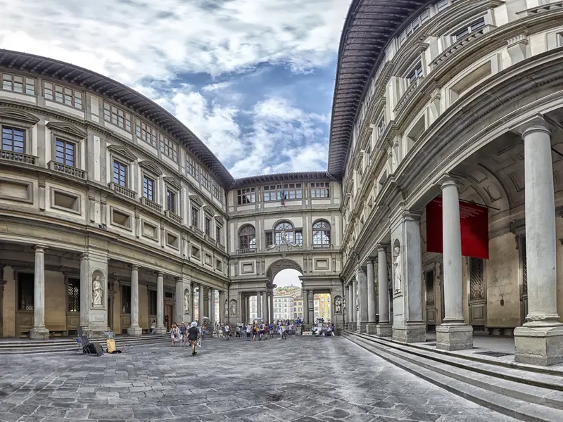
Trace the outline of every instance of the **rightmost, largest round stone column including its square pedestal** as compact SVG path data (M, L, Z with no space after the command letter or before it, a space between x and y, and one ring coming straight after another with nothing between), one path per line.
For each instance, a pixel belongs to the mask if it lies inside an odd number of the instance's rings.
M528 315L514 330L514 360L524 364L563 362L563 324L557 314L557 236L551 132L536 118L522 128L524 139Z

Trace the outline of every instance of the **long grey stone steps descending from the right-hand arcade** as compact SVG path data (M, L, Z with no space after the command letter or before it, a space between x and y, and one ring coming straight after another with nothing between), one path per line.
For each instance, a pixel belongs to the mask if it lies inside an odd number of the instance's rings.
M563 392L486 375L472 369L436 362L434 359L388 347L388 342L371 341L369 336L344 333L365 350L414 373L426 381L466 399L523 421L563 421Z

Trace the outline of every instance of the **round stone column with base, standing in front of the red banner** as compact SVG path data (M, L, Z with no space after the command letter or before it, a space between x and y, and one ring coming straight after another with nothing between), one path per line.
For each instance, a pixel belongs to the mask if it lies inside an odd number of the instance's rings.
M465 324L463 316L460 198L457 183L451 177L444 177L441 187L445 318L436 327L436 348L472 349L473 327Z

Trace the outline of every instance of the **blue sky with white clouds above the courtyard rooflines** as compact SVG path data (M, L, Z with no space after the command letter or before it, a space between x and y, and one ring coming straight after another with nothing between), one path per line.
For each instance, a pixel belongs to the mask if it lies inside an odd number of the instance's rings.
M348 0L0 0L0 48L89 68L182 120L234 177L326 170Z

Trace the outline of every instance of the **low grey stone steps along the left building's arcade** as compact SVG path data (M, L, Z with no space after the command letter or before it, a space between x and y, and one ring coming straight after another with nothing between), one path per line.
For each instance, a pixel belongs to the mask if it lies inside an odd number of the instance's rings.
M91 340L98 342L106 350L106 339ZM124 347L164 343L170 341L170 335L143 335L141 337L116 337L115 345L118 350ZM0 341L0 354L37 354L37 353L61 353L78 352L79 347L75 338L69 337L64 340L2 340Z

